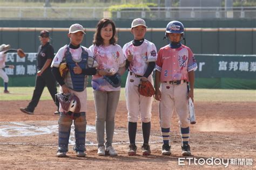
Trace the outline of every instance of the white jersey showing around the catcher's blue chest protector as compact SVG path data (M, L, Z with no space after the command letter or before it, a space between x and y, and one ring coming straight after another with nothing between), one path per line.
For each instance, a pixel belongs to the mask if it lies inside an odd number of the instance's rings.
M59 49L59 51L56 53L55 57L53 58L51 67L57 67L57 68L59 67L60 63L62 62L62 60L64 58L67 46L68 45L65 45ZM92 52L88 48L86 48L84 46L80 46L80 47L84 48L84 50L89 54L89 56L93 56ZM82 49L80 47L77 49L69 48L74 61L76 61L76 60L79 61L81 59ZM94 62L92 67L98 67L98 63Z

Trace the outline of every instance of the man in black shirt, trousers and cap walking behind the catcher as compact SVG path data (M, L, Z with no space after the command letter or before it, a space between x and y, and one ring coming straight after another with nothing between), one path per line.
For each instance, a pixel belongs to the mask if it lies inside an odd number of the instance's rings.
M44 87L47 86L53 101L55 101L55 94L57 94L56 80L51 73L51 62L54 57L54 49L50 44L50 34L49 31L43 30L40 32L39 40L41 44L38 48L37 53L37 75L36 75L36 85L33 91L32 100L26 108L19 108L25 114L33 114L40 97L43 93ZM59 102L56 102L59 108ZM58 111L55 114L59 114Z

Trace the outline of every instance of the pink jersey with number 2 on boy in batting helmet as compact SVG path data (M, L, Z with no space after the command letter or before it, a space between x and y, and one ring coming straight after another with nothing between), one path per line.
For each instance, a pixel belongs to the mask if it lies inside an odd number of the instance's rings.
M196 59L190 48L181 45L171 48L166 45L160 48L156 62L156 70L161 72L160 81L189 81L188 72L197 69Z

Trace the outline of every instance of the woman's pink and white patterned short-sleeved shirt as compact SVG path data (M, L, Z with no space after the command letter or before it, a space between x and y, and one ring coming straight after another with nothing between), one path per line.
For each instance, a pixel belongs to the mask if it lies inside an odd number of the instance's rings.
M116 71L125 67L125 57L122 48L119 45L95 46L89 47L93 53L95 60L98 62L99 69L111 69ZM119 91L120 87L114 88L109 84L103 76L96 74L92 76L92 88L100 91Z

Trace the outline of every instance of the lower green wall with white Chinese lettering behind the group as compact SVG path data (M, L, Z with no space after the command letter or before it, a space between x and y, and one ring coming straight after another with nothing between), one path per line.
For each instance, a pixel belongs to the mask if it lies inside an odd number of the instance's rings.
M195 54L195 57L196 88L256 89L256 55ZM29 53L23 59L16 53L8 53L6 61L6 65L15 65L14 69L5 69L9 86L35 86L36 53ZM127 72L122 76L122 87L126 77ZM2 79L0 85L3 86Z

